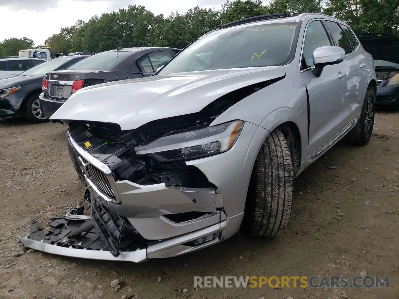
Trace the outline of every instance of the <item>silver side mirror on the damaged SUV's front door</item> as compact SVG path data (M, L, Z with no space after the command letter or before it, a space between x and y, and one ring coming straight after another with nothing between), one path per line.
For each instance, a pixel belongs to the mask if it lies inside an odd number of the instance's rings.
M313 51L313 75L320 77L326 65L341 63L345 60L345 50L336 46L318 47Z

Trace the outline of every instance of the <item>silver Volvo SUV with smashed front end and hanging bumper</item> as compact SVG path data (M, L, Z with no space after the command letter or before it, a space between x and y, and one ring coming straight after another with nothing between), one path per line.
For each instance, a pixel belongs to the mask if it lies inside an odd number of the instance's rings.
M273 237L290 219L292 180L344 138L369 142L373 59L322 14L239 20L194 41L154 76L75 92L51 117L85 203L32 222L30 248L142 262L241 231ZM295 225L295 224L293 224Z

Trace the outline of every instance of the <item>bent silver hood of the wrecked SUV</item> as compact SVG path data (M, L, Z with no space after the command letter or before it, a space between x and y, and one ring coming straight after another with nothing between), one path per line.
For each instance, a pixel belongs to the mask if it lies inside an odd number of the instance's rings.
M50 120L109 122L132 130L153 120L199 112L224 94L285 72L284 66L257 67L103 83L72 94Z

